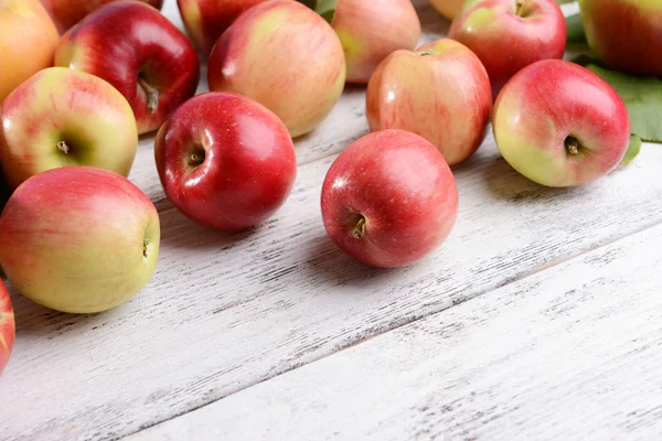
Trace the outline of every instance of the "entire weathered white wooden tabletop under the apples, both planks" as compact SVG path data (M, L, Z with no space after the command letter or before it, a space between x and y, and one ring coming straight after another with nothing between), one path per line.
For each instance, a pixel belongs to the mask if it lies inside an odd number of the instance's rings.
M423 40L444 35L416 3ZM174 0L164 13L182 26ZM94 316L13 295L0 439L662 439L662 149L551 190L489 136L453 170L442 248L377 270L331 244L319 208L329 165L366 132L364 89L348 87L297 141L287 204L235 235L173 208L143 139L131 179L161 214L157 273Z

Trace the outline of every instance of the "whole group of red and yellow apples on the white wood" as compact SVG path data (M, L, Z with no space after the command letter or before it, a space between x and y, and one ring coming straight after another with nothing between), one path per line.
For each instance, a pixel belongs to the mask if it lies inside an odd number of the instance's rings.
M8 286L67 313L107 311L147 286L161 229L129 179L140 136L153 136L163 193L191 222L263 224L295 186L296 140L346 84L365 88L370 133L329 168L320 217L367 266L414 265L450 236L452 168L490 126L504 160L541 185L584 185L621 163L628 109L563 60L556 1L430 2L452 23L420 42L409 0L178 0L184 30L162 0L0 0ZM662 75L648 56L662 47L653 3L581 0L591 49L623 72ZM201 63L210 90L196 95ZM0 372L14 341L9 291L0 283Z

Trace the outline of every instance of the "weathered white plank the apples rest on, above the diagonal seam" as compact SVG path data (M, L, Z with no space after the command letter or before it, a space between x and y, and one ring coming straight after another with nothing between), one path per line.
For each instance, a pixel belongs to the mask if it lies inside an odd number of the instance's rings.
M444 32L429 7L419 11L424 37ZM334 154L367 130L363 97L345 92L324 125L297 140L291 197L234 235L172 207L143 139L131 180L159 207L157 273L135 299L93 316L14 294L0 439L116 439L662 222L656 147L600 182L558 191L520 176L488 137L453 170L460 216L444 247L401 270L363 267L328 240L319 209Z

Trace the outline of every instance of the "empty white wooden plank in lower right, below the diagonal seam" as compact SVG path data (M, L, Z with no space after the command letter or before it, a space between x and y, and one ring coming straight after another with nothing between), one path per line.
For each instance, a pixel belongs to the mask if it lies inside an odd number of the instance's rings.
M660 440L662 226L129 437Z

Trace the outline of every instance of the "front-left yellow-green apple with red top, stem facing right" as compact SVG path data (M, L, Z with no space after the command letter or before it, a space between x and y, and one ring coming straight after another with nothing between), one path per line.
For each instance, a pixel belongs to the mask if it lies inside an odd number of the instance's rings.
M96 313L138 293L154 272L156 207L128 179L70 165L23 182L0 215L0 267L56 311Z

